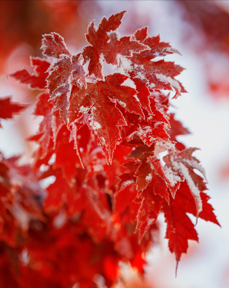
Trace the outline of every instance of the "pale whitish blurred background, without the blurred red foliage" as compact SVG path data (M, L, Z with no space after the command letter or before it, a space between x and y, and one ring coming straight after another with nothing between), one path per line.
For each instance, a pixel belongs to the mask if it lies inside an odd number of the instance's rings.
M228 1L224 2L223 4L228 5ZM206 169L209 182L209 191L207 192L212 197L209 202L214 207L215 214L222 226L220 228L213 223L198 219L196 228L199 244L193 241L189 242L188 253L181 256L175 278L175 256L169 252L168 240L164 239L166 227L163 224L163 216L161 216L161 243L159 246L153 247L147 255L149 265L145 267L146 279L155 288L229 287L229 179L223 179L220 175L222 166L229 161L229 100L221 98L216 101L208 94L203 59L193 52L188 43L184 43L184 28L189 24L182 20L175 2L101 0L97 1L97 4L101 9L93 15L96 24L104 15L109 17L110 14L127 10L128 13L123 19L124 23L119 29L122 35L124 35L123 33L133 33L136 29L148 25L150 35L160 34L162 41L170 42L172 47L181 52L182 56L172 54L165 57L165 60L175 61L176 64L186 68L177 79L184 85L188 93L171 100L172 105L175 106L171 110L176 113L176 119L192 132L190 135L180 136L180 141L187 147L201 149L194 152L193 156L196 156ZM86 13L84 2L80 9L82 9L82 14ZM135 19L136 13L138 17ZM126 32L131 29L133 31ZM29 48L26 49L29 50ZM20 54L18 50L12 53L6 64L8 67L12 67L15 59L18 59L18 53ZM24 65L23 62L22 66ZM22 66L20 66L19 59L15 68L19 69ZM6 71L7 69L6 67ZM5 76L2 76L0 81L1 97L11 94L15 101L23 97L23 89L16 90L11 85L12 82ZM29 115L31 112L32 108L26 113ZM22 137L18 132L18 128L25 123L20 116L16 116L15 119L16 121L2 120L0 150L6 157L23 153L29 149L28 144L23 140L24 135ZM29 125L26 124L26 136L34 132L34 127L39 121L30 117L30 122Z

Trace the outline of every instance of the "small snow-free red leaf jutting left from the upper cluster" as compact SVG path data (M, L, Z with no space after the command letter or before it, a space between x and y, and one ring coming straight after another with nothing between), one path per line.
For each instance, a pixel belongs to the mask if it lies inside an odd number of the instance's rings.
M33 73L27 69L23 69L9 74L9 76L19 81L19 83L28 85L29 89L46 89L47 83L45 79L48 77L46 71L48 70L50 63L39 57L30 57L30 63L34 71Z

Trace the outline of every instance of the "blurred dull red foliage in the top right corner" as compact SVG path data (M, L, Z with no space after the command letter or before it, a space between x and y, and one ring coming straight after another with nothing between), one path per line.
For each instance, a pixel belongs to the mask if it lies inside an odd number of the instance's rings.
M185 31L188 45L205 64L208 89L215 98L229 96L229 6L209 0L177 0L182 20L195 29ZM226 1L225 1L226 2ZM196 38L196 39L195 39ZM198 40L197 40L198 39Z

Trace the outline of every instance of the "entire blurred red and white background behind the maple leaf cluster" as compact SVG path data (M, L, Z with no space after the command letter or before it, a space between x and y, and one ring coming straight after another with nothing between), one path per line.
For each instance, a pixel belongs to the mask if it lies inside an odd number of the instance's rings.
M180 136L206 169L209 201L222 229L198 219L199 244L189 242L175 278L175 257L167 248L161 215L160 243L147 255L146 282L154 288L229 287L229 1L105 1L105 0L11 0L0 1L0 97L31 104L14 120L2 120L0 150L5 157L23 153L31 161L40 119L31 116L37 91L8 79L14 70L30 67L29 56L42 56L42 34L57 32L72 53L87 45L84 33L95 19L127 10L119 29L122 35L149 26L150 35L160 34L179 55L168 55L186 70L177 77L188 93L171 100L171 111L191 132ZM171 98L172 98L171 94ZM193 221L195 219L192 218ZM132 276L131 276L132 277ZM139 287L143 285L139 284ZM133 286L132 286L133 287Z

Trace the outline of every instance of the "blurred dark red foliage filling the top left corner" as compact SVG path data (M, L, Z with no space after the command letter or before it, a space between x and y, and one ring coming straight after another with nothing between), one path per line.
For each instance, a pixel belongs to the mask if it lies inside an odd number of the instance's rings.
M5 60L21 44L34 49L34 55L41 56L42 34L56 31L72 45L79 47L85 42L83 33L88 25L90 13L85 13L90 5L92 11L99 10L95 1L84 2L85 10L79 8L82 0L2 0L0 1L0 73L4 72ZM72 35L72 31L77 31Z

